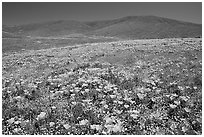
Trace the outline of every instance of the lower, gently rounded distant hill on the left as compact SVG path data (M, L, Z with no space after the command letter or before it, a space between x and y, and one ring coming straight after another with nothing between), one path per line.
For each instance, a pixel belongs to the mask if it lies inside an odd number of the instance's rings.
M61 36L87 32L90 27L78 21L53 21L7 27L7 31L22 36Z

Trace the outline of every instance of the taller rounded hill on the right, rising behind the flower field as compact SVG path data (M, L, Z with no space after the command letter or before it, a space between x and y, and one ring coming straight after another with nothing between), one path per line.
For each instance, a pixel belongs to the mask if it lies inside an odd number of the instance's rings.
M108 25L93 31L92 34L130 39L198 37L202 35L201 25L155 16L125 17L111 23L108 22Z

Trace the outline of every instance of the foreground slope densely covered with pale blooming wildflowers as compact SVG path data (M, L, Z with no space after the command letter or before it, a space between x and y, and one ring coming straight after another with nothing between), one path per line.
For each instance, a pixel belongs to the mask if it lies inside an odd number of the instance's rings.
M202 40L3 53L2 133L200 135Z

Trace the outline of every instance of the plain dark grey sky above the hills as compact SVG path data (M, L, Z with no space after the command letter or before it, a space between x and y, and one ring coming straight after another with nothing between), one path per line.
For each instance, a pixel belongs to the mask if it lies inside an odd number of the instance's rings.
M137 15L155 15L201 24L202 3L3 2L2 4L2 21L3 24L6 25L19 25L52 20L92 21Z

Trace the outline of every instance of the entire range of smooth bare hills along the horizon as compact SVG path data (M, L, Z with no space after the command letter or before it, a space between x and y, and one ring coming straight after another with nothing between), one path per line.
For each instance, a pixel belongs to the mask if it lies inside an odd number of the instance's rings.
M53 21L3 30L21 36L67 36L73 34L110 36L124 39L201 37L202 25L156 16L128 16L104 21Z

